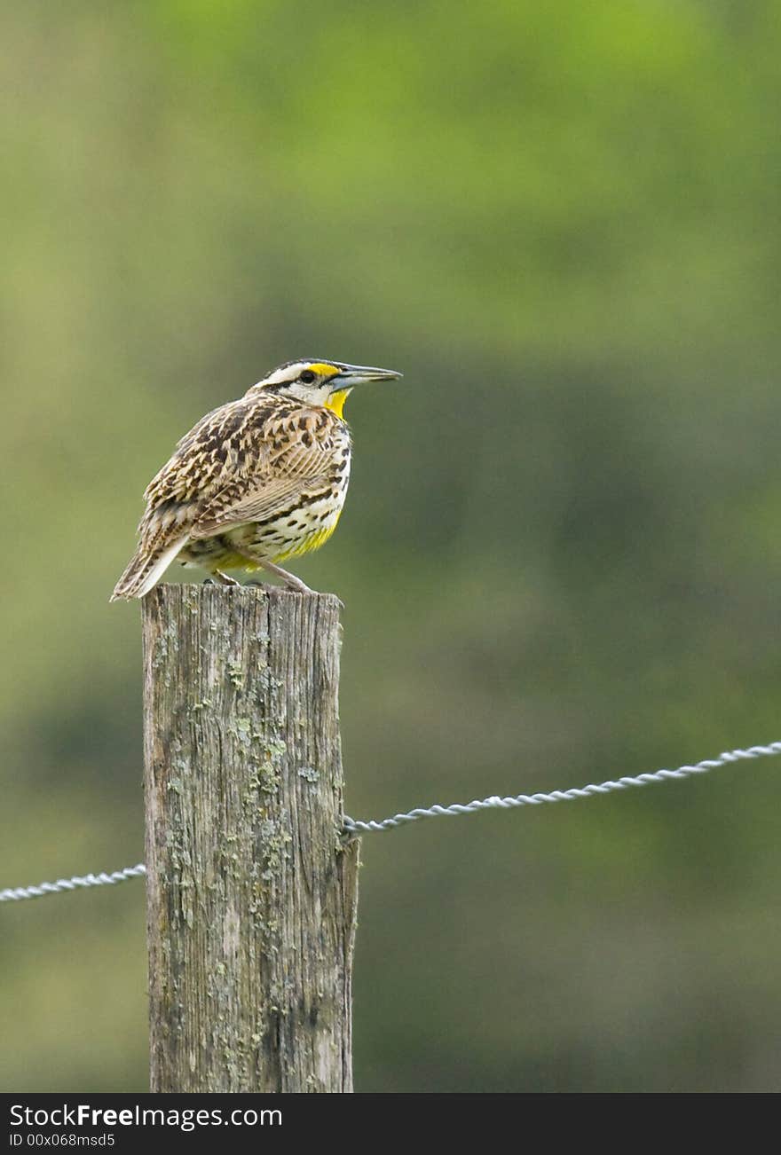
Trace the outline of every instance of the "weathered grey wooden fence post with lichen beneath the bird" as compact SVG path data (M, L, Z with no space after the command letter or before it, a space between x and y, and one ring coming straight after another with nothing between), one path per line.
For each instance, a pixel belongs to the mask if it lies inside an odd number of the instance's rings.
M350 1091L339 601L143 599L153 1091Z

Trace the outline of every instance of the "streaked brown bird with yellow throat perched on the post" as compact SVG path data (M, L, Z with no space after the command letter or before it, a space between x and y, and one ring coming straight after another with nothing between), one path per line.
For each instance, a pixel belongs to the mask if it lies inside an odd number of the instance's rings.
M344 402L356 385L401 375L299 358L202 417L144 491L139 545L111 601L143 597L174 559L225 586L239 584L228 569L266 569L313 593L280 562L336 529L352 455Z

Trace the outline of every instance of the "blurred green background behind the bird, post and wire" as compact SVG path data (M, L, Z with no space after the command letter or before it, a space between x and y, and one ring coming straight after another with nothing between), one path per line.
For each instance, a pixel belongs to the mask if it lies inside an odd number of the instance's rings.
M753 0L1 17L0 886L142 857L141 492L349 404L348 811L781 738L781 22ZM179 580L179 575L176 575ZM359 1090L778 1090L779 766L364 840ZM143 885L0 912L0 1086L143 1090Z

